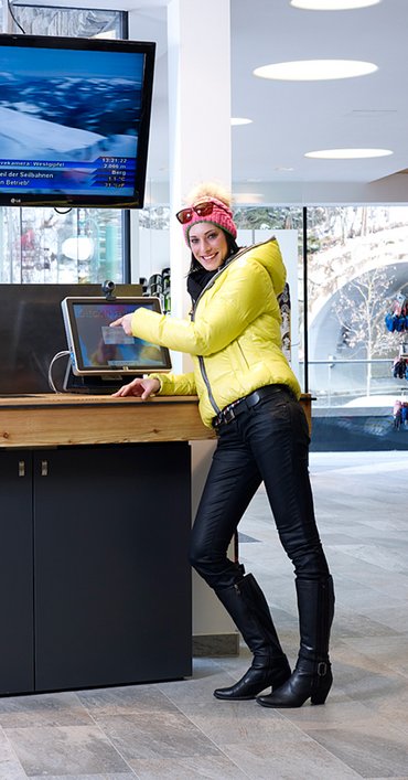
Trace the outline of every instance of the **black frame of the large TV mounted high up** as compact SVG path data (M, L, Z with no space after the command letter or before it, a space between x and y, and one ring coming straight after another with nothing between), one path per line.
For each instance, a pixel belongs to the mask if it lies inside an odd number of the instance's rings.
M0 206L42 206L55 209L142 209L144 204L146 177L149 150L151 109L153 98L153 76L155 43L152 41L129 41L104 38L64 38L58 35L25 35L0 33L0 46L31 49L65 49L71 51L136 52L143 54L144 75L142 88L142 108L138 135L138 165L133 194L129 196L80 195L80 194L39 194L8 193L0 189Z

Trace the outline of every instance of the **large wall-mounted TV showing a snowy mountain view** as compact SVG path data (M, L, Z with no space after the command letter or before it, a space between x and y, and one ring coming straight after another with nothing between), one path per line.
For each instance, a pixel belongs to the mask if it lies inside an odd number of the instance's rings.
M141 209L154 52L0 34L0 205Z

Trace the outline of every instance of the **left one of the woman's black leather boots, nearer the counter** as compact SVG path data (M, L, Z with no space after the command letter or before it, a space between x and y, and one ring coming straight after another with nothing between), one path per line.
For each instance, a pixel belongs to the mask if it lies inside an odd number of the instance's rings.
M254 660L235 685L217 688L214 696L225 701L243 701L255 698L269 686L273 690L282 685L290 676L290 666L255 577L248 574L230 588L215 592L254 653Z

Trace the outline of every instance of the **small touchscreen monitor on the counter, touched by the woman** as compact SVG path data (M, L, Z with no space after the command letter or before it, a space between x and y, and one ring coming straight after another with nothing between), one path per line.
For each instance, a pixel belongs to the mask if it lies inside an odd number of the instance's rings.
M161 313L159 298L64 298L61 303L72 371L76 376L120 380L130 374L170 371L169 350L126 335L110 323L144 307Z

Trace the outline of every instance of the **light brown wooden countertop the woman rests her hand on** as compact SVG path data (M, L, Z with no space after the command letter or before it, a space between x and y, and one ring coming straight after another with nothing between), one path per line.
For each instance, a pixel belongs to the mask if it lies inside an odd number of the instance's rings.
M310 425L310 396L301 398ZM112 398L43 393L0 396L0 448L214 439L196 396Z

